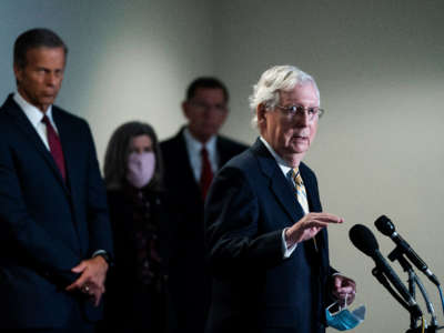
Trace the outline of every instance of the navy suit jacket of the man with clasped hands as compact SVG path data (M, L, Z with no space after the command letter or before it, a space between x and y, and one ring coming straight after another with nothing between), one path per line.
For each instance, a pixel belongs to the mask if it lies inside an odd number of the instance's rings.
M67 182L21 108L0 109L0 329L63 325L80 303L64 287L71 269L99 250L112 253L107 198L87 122L52 108Z

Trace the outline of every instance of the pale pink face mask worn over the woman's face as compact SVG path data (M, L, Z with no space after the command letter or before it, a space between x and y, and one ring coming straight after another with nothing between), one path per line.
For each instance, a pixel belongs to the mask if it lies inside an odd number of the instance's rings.
M153 152L132 152L128 157L127 180L137 189L142 189L151 181L155 169Z

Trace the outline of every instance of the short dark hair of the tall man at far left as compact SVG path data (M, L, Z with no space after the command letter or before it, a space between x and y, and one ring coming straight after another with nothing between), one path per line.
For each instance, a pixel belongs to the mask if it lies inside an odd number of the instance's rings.
M28 51L42 47L51 49L63 48L64 58L67 60L68 47L62 39L49 29L37 28L24 31L17 38L13 49L13 64L18 68L24 68L27 65Z

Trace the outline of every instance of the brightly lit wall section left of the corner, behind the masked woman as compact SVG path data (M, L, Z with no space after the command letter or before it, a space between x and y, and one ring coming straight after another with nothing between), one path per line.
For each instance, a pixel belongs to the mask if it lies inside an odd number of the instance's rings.
M1 1L0 95L14 89L16 38L53 29L70 49L57 103L90 122L102 162L125 121L148 121L161 138L178 131L189 81L213 74L212 16L204 0Z

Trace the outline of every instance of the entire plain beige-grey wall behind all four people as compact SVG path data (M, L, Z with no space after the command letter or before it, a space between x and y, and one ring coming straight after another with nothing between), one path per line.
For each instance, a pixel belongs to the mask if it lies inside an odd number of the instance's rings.
M387 254L393 243L373 226L386 214L444 279L443 13L440 0L2 1L0 92L13 89L16 37L36 26L59 31L71 49L59 104L90 121L102 159L112 130L127 120L173 134L183 122L183 90L200 74L229 84L223 131L252 142L252 84L270 65L301 67L316 78L326 109L306 162L324 210L346 221L330 228L332 262L355 278L357 303L367 305L354 332L404 332L407 313L347 233L366 224ZM443 324L437 292L421 278Z

